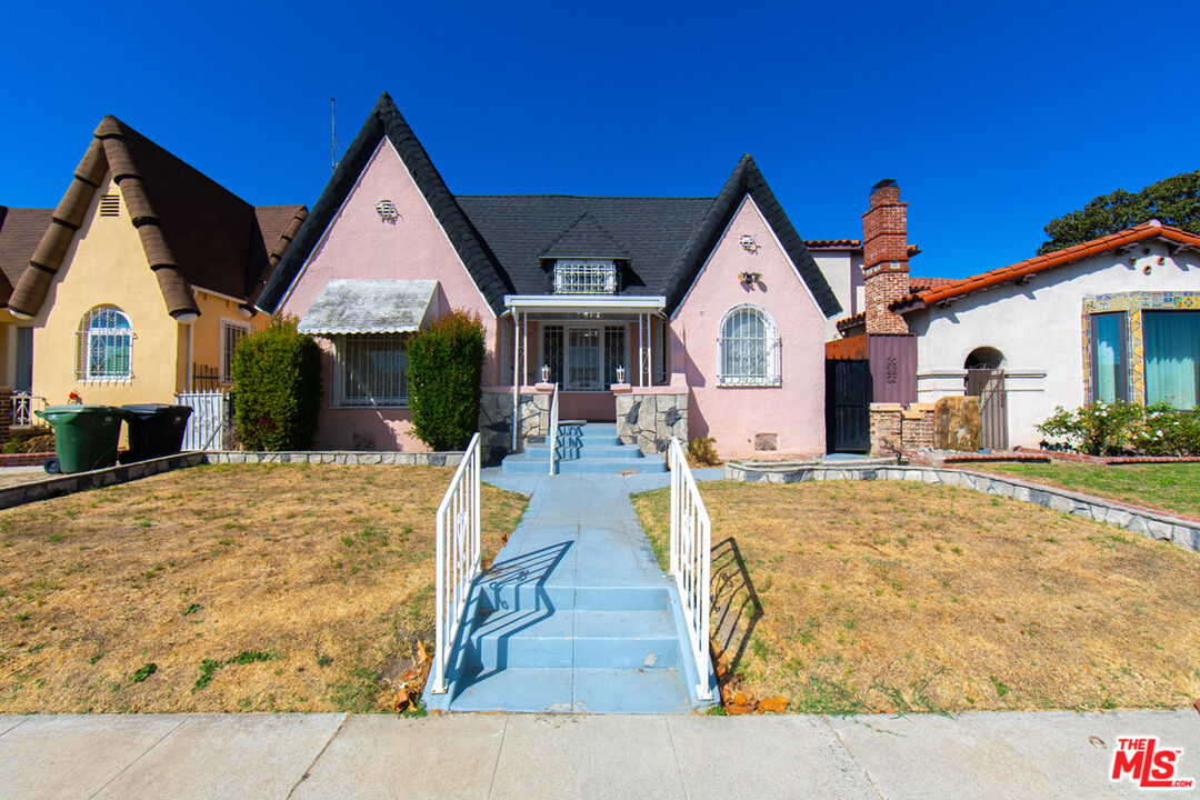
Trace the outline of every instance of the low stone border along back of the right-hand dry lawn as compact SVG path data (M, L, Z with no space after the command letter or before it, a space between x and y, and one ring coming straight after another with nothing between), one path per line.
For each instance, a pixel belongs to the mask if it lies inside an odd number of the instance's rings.
M1040 483L998 477L965 469L936 467L876 467L839 469L835 467L805 467L800 469L769 469L744 464L726 464L725 477L745 483L799 483L803 481L914 481L942 483L996 494L1021 503L1062 511L1123 528L1150 539L1174 541L1180 547L1200 552L1200 521L1172 517L1148 509L1129 506L1116 500L1069 492Z

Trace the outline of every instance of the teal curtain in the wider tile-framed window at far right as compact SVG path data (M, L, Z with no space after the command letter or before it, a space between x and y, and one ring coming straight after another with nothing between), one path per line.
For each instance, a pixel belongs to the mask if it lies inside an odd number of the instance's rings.
M1200 312L1142 314L1146 404L1194 408L1200 396Z

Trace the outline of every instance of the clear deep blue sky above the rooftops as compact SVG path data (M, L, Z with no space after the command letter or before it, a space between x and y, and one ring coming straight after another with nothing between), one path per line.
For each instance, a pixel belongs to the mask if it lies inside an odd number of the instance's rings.
M11 2L0 204L53 206L104 114L256 204L312 205L329 98L382 91L461 194L715 194L754 154L800 235L910 201L913 271L1026 258L1200 168L1200 4Z

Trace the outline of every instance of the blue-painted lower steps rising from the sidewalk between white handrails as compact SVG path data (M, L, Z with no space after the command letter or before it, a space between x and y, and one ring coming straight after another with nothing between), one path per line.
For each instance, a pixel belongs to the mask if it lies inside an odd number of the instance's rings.
M451 711L688 714L671 596L660 585L478 584L455 651Z

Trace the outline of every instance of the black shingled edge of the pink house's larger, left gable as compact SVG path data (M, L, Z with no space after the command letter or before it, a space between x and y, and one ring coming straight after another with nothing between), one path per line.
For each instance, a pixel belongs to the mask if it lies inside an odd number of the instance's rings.
M404 121L388 92L379 97L358 136L354 137L354 142L347 148L342 160L337 162L337 169L334 170L334 176L320 193L320 199L312 206L312 212L305 224L300 227L292 247L281 259L278 269L271 275L259 295L257 301L259 308L274 312L282 302L283 295L300 273L300 269L317 242L320 241L325 229L334 221L346 198L349 197L350 190L354 188L384 137L388 137L396 152L400 154L400 160L413 176L421 194L425 196L426 203L433 210L433 216L445 230L450 243L454 245L458 258L462 259L488 305L497 314L504 311L504 295L512 291L512 283L487 251L486 245L462 209L458 207L455 197L446 188L445 181L442 180L442 175L430 161L428 154L425 152L425 148L416 140L413 130L408 127L408 122Z

